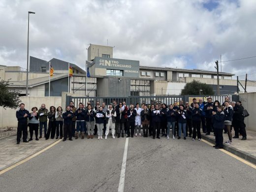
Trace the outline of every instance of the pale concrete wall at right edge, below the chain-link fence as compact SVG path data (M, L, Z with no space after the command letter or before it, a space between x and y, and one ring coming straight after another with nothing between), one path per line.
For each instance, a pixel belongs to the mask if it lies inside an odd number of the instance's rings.
M250 114L245 118L246 128L256 131L256 92L239 94L239 100Z

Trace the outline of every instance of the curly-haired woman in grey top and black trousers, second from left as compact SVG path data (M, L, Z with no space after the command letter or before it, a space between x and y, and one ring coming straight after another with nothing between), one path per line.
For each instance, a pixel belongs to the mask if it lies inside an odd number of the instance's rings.
M29 117L29 128L30 128L30 139L29 141L33 140L33 131L35 134L35 140L38 141L38 128L39 128L39 115L36 112L37 111L37 107L32 107L32 113L30 114Z

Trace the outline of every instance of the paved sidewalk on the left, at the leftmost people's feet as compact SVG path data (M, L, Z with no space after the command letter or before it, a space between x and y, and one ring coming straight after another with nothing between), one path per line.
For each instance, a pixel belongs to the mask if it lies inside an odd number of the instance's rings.
M45 140L45 138L41 138L39 141L36 141L33 137L33 140L29 143L23 143L21 139L21 143L17 145L16 135L0 139L0 171L35 154L58 140Z

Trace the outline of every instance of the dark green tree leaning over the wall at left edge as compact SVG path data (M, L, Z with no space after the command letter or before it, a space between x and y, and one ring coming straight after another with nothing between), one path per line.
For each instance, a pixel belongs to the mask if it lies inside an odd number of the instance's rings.
M16 109L19 106L19 103L21 102L19 94L19 91L10 90L8 88L9 80L0 81L0 106L2 106L4 109L9 107L12 109Z

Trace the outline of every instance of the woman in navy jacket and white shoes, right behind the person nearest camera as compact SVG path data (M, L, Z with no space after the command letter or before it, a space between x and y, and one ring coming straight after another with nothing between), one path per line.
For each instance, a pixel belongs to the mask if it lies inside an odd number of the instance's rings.
M228 101L224 102L224 114L225 114L225 121L224 121L224 125L225 125L225 129L228 135L228 141L226 141L226 144L232 144L232 133L231 133L231 125L232 125L232 117L234 114L233 111L233 107L231 105L229 105Z

